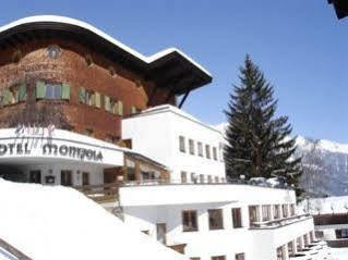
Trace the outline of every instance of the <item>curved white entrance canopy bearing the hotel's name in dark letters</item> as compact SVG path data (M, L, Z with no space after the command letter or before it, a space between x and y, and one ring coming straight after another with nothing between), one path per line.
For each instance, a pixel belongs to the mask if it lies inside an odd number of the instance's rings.
M105 168L124 164L122 148L53 127L0 129L0 164L70 162Z

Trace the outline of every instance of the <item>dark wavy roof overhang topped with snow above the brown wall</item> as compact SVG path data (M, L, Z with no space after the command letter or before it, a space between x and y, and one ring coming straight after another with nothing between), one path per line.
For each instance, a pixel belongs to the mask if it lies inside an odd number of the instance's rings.
M28 40L53 37L91 47L144 79L154 81L158 87L170 88L175 95L212 82L212 75L203 66L176 48L145 57L87 23L63 16L31 16L2 26L0 48L15 48Z

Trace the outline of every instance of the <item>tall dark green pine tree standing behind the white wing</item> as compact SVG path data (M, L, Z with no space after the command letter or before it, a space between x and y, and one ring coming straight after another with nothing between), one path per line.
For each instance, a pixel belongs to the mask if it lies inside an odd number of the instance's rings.
M240 69L228 109L225 161L227 175L239 178L283 176L298 185L301 159L295 158L295 138L287 116L276 117L274 88L249 55ZM300 190L298 190L300 193ZM298 193L298 194L299 194Z

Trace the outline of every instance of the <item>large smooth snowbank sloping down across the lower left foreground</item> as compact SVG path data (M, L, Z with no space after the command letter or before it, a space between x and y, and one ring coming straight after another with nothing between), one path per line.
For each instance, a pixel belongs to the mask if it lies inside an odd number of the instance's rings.
M35 260L183 260L81 193L0 178L0 237Z

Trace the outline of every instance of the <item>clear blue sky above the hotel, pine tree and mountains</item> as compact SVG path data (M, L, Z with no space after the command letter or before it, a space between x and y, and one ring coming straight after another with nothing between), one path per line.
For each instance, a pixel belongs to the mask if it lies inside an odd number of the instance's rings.
M144 54L177 47L214 76L183 109L204 122L223 110L245 53L264 71L295 135L348 143L348 18L326 0L43 1L2 3L0 24L35 14L83 20Z

